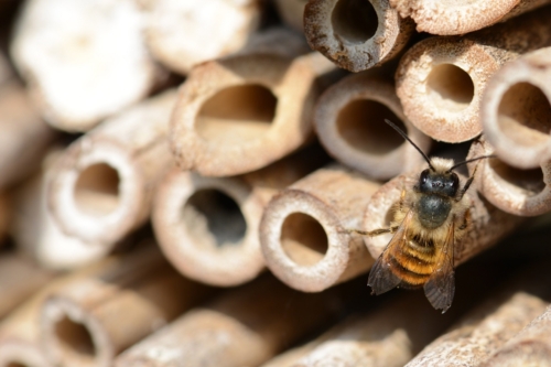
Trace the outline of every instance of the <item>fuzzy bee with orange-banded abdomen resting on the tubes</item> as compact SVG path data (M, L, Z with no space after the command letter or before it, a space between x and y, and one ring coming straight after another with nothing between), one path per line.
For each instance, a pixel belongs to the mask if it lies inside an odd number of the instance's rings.
M453 160L429 159L410 138L389 120L385 120L409 141L429 164L410 190L402 190L389 228L372 231L354 230L365 236L393 234L369 273L371 294L396 287L423 288L436 310L452 305L455 293L454 246L469 226L469 201L465 193L473 183L476 169L461 186L453 171L460 165L493 155L477 156L457 164Z

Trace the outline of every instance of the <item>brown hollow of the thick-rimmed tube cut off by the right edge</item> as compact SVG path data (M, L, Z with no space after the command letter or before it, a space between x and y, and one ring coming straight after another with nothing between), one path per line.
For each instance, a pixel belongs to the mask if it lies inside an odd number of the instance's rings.
M547 143L551 131L551 105L540 88L517 83L504 94L497 121L501 131L519 144Z

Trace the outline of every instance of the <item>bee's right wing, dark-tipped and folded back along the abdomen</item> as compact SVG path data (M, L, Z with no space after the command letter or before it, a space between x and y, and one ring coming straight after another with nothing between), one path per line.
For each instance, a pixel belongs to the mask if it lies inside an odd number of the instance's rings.
M429 302L431 302L434 309L442 310L442 313L450 309L455 293L453 270L454 233L455 225L452 222L447 228L445 242L436 253L436 267L423 287Z

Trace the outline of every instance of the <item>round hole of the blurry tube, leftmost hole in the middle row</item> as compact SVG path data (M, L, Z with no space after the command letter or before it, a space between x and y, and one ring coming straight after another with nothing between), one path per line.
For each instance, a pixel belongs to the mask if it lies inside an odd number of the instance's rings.
M119 205L120 177L114 168L97 163L84 170L75 185L75 203L83 213L104 216Z

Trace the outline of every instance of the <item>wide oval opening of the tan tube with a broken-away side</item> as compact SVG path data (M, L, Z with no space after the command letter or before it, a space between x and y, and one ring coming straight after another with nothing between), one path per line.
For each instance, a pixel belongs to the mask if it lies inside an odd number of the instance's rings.
M267 132L276 116L278 99L260 85L222 89L201 108L197 133L213 143L239 144Z

